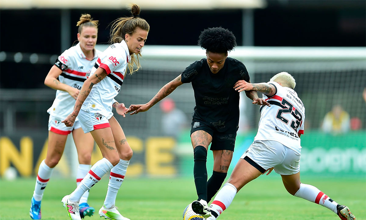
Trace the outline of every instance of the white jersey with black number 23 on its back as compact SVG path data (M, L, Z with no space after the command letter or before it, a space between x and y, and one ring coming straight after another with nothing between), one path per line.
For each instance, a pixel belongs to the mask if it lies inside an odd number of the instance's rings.
M258 133L254 140L274 140L300 154L300 137L304 133L305 107L294 89L270 81L276 88L273 96L263 99L270 103L261 106Z

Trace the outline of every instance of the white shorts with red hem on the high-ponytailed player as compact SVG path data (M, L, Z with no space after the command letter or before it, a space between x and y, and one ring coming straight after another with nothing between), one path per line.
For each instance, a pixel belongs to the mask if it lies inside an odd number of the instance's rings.
M109 118L97 112L84 111L81 109L78 118L84 133L111 127L111 125L109 125Z

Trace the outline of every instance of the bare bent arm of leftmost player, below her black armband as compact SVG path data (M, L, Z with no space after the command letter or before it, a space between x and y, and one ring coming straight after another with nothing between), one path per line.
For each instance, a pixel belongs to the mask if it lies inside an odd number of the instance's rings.
M79 89L61 83L59 80L57 80L57 77L59 77L61 73L62 70L60 70L59 67L53 65L45 78L45 85L53 89L68 92L72 98L76 99L79 95Z

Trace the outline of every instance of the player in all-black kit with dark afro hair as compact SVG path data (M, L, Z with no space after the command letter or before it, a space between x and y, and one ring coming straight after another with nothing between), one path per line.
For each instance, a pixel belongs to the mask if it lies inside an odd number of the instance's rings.
M235 36L222 27L203 30L198 45L206 49L206 57L188 66L181 75L166 84L146 104L132 104L126 113L137 114L149 110L183 83L192 83L196 106L191 128L194 148L194 181L198 200L192 203L194 212L205 219L210 216L207 202L220 189L228 172L239 128L238 80L250 82L242 62L228 57L236 46ZM253 104L268 103L258 98L257 92L246 91ZM208 146L213 152L213 173L207 181L206 159Z

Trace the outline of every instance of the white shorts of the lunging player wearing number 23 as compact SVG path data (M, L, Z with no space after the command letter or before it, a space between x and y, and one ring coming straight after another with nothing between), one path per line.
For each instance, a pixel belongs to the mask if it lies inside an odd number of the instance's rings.
M292 175L300 171L300 154L274 140L254 141L240 158L262 173L272 167L280 175Z

